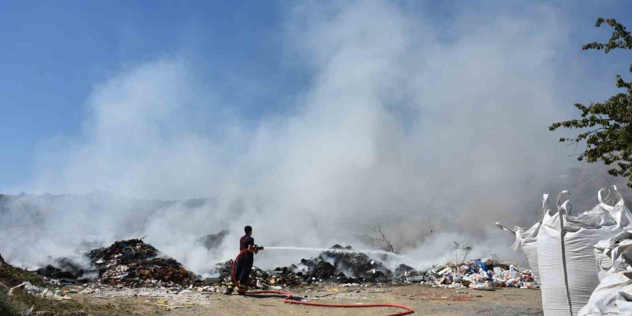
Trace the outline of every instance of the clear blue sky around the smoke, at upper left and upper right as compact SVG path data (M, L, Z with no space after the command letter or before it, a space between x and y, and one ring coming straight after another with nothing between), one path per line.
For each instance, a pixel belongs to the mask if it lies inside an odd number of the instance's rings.
M568 107L614 92L615 73L631 76L626 73L629 52L580 51L581 44L609 36L609 28L593 27L598 16L615 17L632 28L626 1L501 3L480 1L466 9L461 1L396 5L446 30L464 10L476 16L499 7L513 14L540 4L555 8L569 27L564 49L552 56L559 82L566 82L559 94ZM202 89L212 91L216 102L248 126L293 111L314 71L288 42L288 25L300 25L288 22L296 18L295 6L277 1L5 1L0 11L0 188L36 178L37 152L51 139L85 137L85 102L96 85L164 56L194 65ZM451 32L443 40L458 37ZM589 76L573 77L568 71L573 68ZM199 119L211 120L214 111L203 109Z

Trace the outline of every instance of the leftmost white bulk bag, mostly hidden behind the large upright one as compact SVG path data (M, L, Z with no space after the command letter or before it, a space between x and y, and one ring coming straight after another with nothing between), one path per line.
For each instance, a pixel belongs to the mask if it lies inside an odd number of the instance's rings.
M516 241L511 246L511 249L518 250L518 247L525 254L526 260L529 262L531 270L533 272L533 278L537 283L540 283L540 271L538 270L538 244L537 244L537 236L538 230L540 229L540 224L542 224L542 220L544 219L544 215L550 212L549 210L549 195L542 195L542 207L540 207L540 215L538 217L538 222L533 224L531 228L522 228L516 226L514 229L509 229L506 226L503 226L501 223L497 222L496 226L504 231L508 231L516 236Z

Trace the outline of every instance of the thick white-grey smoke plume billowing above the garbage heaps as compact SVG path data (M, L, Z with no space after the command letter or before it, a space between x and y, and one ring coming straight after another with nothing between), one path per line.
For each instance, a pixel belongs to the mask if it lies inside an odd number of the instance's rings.
M236 253L246 224L257 243L312 247L368 246L362 234L381 224L416 267L451 260L454 240L519 258L494 222L532 224L571 161L546 128L569 116L552 65L568 31L546 6L466 12L446 26L390 1L289 9L284 42L308 85L291 111L255 121L219 104L184 57L120 71L95 85L82 137L43 146L24 188L78 195L12 197L0 253L32 267L87 236L146 235L204 273ZM222 229L216 252L196 242Z

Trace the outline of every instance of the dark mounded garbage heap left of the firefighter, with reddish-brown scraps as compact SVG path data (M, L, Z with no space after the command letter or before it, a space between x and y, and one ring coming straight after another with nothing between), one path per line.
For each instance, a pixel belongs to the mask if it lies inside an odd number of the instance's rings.
M88 257L104 284L132 288L173 286L198 279L179 262L164 257L154 246L139 239L116 241L109 247L92 250Z

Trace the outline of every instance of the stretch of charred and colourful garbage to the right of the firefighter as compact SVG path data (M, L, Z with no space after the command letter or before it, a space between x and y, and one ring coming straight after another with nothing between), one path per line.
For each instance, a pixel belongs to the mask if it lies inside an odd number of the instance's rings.
M222 283L231 279L233 260L217 264L216 272ZM495 288L537 289L539 285L532 270L513 263L481 258L446 265L435 265L430 270L415 270L400 264L394 271L351 246L332 246L317 257L301 259L298 264L265 271L253 267L250 286L255 288L300 287L316 283L422 283L444 288Z

